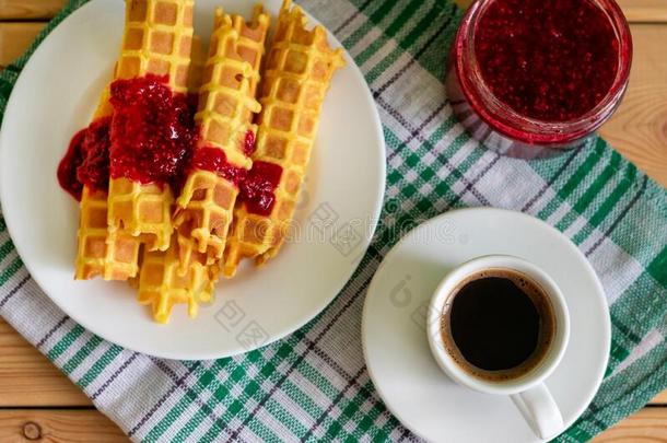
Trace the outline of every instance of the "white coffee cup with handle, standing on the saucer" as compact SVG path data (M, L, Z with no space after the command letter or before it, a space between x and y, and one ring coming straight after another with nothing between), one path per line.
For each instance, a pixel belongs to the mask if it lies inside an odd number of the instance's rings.
M499 268L517 271L537 283L551 302L555 318L553 339L539 363L520 376L504 381L481 378L466 371L449 354L442 335L442 317L453 291L468 277ZM454 382L481 393L510 396L526 422L541 439L555 436L563 430L563 418L545 380L555 370L565 353L570 338L570 317L561 290L539 267L507 255L488 255L464 263L447 273L435 290L426 329L435 361Z

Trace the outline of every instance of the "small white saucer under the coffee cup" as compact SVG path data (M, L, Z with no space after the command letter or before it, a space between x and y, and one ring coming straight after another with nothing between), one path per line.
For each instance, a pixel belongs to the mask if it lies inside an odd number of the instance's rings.
M611 327L605 293L588 261L565 236L538 219L502 209L461 209L436 217L387 254L368 289L362 326L377 392L408 429L428 441L539 441L508 397L452 382L426 341L426 308L437 283L449 269L487 254L535 263L565 295L570 342L547 380L565 428L584 412L607 366Z

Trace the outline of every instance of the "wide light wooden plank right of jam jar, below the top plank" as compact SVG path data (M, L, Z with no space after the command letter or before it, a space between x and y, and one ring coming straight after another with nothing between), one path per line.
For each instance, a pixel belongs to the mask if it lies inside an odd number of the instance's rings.
M600 128L631 162L667 186L667 25L632 25L634 60L621 106Z

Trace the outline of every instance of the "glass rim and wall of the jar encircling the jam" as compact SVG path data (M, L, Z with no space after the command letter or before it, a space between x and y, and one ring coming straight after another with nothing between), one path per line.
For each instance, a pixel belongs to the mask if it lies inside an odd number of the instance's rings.
M562 144L581 139L599 128L617 108L625 92L632 62L630 26L613 0L590 0L600 8L619 43L619 66L609 91L592 109L564 121L546 121L522 115L500 101L481 75L475 56L478 19L495 0L478 0L466 12L454 40L454 71L472 109L498 132L526 143Z

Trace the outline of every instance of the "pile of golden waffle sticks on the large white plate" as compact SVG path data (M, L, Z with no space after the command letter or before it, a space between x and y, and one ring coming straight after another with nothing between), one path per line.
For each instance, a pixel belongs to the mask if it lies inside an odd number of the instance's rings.
M108 193L84 187L75 277L136 281L140 303L165 323L175 304L196 315L218 276L233 276L242 258L262 264L278 253L324 97L343 58L325 30L307 31L301 9L285 0L260 83L269 27L260 7L248 23L218 9L204 62L192 34L192 0L126 2L115 80L164 75L173 94L198 93L199 138L176 200L168 185L127 177L112 177ZM95 118L113 113L107 88ZM199 154L212 155L218 166L198 163ZM243 199L254 162L281 170L267 213L254 212Z

